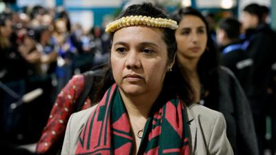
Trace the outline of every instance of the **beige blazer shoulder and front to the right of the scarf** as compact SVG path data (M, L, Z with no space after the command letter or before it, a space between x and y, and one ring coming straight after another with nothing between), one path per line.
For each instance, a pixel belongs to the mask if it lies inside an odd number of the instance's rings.
M224 115L203 105L187 107L191 145L195 155L233 155Z

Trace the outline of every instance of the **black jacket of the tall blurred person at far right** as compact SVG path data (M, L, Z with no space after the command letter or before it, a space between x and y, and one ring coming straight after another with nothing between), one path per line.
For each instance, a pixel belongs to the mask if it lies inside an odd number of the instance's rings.
M275 33L266 24L260 24L254 30L246 31L248 48L246 53L253 59L250 71L250 85L246 88L246 96L253 108L253 113L262 113L267 95L270 68L276 61Z

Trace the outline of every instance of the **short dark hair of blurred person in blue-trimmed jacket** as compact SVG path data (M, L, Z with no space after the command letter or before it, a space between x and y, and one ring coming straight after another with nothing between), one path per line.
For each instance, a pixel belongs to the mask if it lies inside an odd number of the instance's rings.
M241 34L241 26L237 19L226 18L219 21L219 29L224 30L229 39L239 39Z

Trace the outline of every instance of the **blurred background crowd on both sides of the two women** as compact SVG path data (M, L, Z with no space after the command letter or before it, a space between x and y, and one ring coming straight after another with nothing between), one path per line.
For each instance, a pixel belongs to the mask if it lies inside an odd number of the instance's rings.
M250 4L242 20L204 14L221 65L237 77L253 113L260 152L276 149L276 40L269 8ZM57 94L73 75L108 61L101 27L72 25L63 8L25 7L0 14L0 145L39 141ZM36 94L38 90L42 93ZM29 96L30 99L26 100ZM25 100L24 100L25 99ZM235 102L235 101L233 101Z

